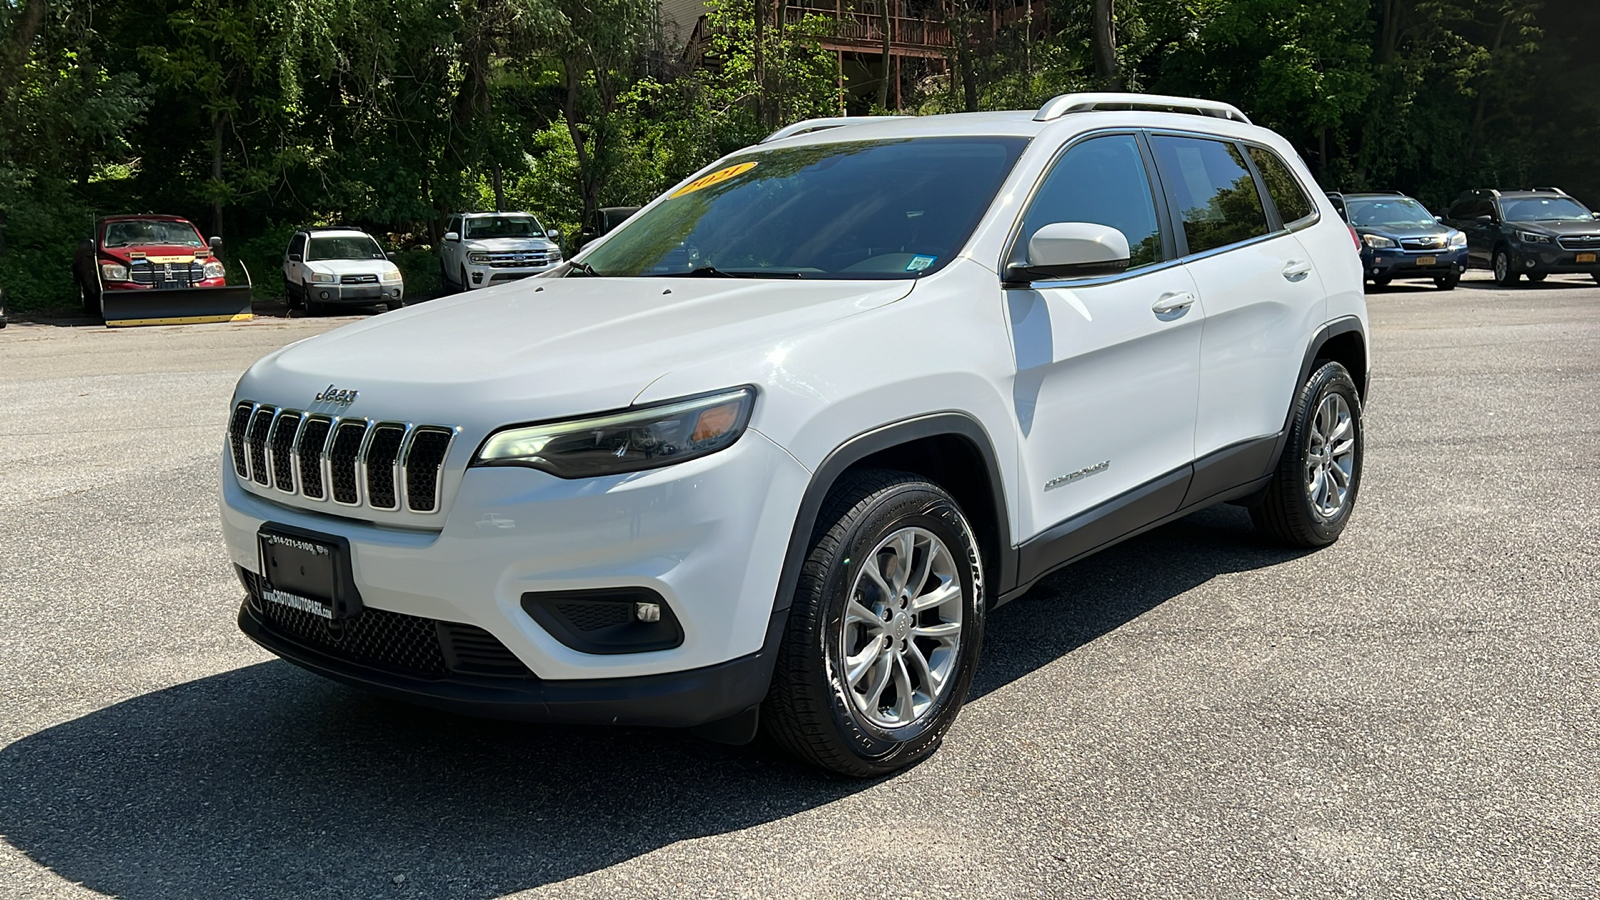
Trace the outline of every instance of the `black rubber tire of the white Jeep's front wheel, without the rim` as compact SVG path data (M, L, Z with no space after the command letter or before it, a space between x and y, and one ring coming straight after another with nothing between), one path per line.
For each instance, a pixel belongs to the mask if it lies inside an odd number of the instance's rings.
M885 554L891 554L888 556L891 560L899 559L891 549L880 548L880 543L909 528L938 538L949 551L941 565L947 567L950 575L942 583L960 581L962 626L957 645L949 650L950 668L942 679L944 687L936 690L938 697L906 724L885 727L858 709L851 684L845 676L845 641L850 639L845 609L861 578L864 593L858 596L864 602L872 602L874 610L878 605L888 607L882 615L894 617L885 625L874 620L874 626L882 633L874 637L872 645L877 647L877 641L888 637L902 625L901 615L894 615L893 604L899 602L902 610L909 610L904 601L890 599L888 604L867 601L867 589L880 599L882 596L869 588L864 567L869 560L874 560L872 565L880 565ZM880 552L875 552L875 548ZM917 562L910 564L909 570L926 565L925 560L930 557L925 549L923 556L914 552L912 559ZM811 552L800 570L789 623L778 649L773 684L762 705L762 725L766 733L802 759L858 778L886 775L926 759L938 749L944 732L955 721L978 669L986 602L981 572L971 525L944 488L909 472L872 469L845 476L822 504L811 538ZM957 604L957 599L950 597L949 604ZM944 607L928 612L938 618L939 609ZM928 626L928 612L909 613L907 621L914 628ZM914 644L926 658L930 653L923 650L923 641L926 639L910 636L901 639L901 647ZM893 650L893 639L890 644L880 658ZM877 671L875 663L869 666ZM902 671L909 673L909 668ZM885 682L894 677L891 663L886 663L882 677ZM918 682L928 684L922 677ZM894 693L901 690L898 684ZM915 690L909 693L915 697ZM878 697L890 695L890 690L883 689ZM877 708L878 700L866 703Z

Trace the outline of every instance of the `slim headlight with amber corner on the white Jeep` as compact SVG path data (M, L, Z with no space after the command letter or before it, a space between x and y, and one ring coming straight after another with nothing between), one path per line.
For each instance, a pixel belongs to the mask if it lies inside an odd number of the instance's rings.
M491 434L474 464L531 466L563 479L670 466L733 445L754 404L754 388L734 388L605 416L514 426Z

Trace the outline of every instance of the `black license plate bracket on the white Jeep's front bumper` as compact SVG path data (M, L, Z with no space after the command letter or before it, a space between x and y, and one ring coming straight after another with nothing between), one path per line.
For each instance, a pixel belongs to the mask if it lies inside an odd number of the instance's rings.
M262 602L330 621L362 613L347 538L266 522L256 532L256 544L261 549Z

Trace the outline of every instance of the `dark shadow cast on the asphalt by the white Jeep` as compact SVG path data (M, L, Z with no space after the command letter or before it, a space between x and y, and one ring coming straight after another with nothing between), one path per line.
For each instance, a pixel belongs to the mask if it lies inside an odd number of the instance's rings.
M1085 560L990 617L974 698L1218 573L1291 556L1216 509ZM133 900L488 898L870 785L762 743L466 719L270 661L0 749L0 834Z

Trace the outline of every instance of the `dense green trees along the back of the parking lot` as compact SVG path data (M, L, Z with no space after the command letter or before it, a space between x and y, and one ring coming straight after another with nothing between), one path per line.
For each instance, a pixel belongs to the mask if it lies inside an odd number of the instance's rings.
M1211 96L1330 189L1600 202L1590 0L1050 0L1013 19L944 0L926 5L960 37L942 74L893 94L843 91L834 3L803 6L712 0L685 66L654 0L0 0L0 283L69 304L74 243L117 211L222 234L267 291L304 223L426 248L450 211L498 207L574 234L782 123L901 94L912 112Z

